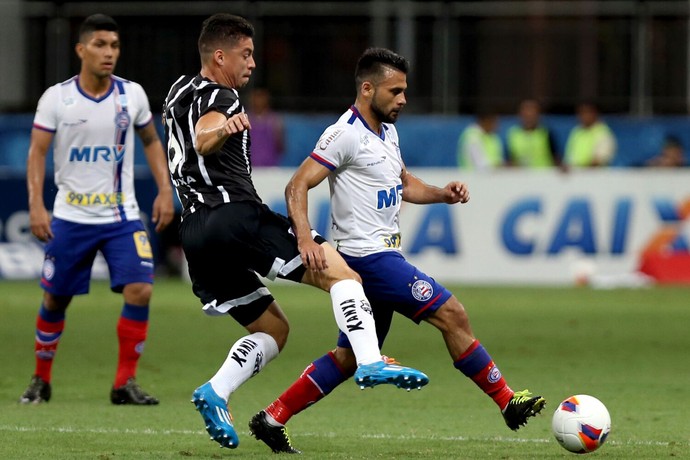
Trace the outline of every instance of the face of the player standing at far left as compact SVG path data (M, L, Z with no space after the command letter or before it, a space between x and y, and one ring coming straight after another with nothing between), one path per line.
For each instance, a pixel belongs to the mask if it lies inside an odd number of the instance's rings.
M110 77L120 57L120 37L117 32L97 30L77 43L82 69L98 78Z

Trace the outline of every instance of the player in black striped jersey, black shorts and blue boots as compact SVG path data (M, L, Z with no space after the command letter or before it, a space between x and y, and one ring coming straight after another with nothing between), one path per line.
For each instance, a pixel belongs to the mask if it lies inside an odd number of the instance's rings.
M415 369L382 360L360 278L333 247L310 230L308 239L323 252L318 261L303 264L289 221L261 202L251 177L251 125L237 92L256 67L253 34L253 26L238 16L216 14L204 21L201 72L180 77L164 107L168 164L184 208L180 237L194 293L206 313L229 314L249 332L192 396L212 439L229 448L239 444L227 408L230 395L278 355L289 331L256 273L330 293L338 327L352 343L359 385L409 389L428 382Z

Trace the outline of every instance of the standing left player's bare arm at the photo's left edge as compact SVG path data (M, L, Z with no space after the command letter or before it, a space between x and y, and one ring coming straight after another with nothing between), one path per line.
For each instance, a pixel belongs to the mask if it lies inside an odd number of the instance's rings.
M26 186L29 192L29 225L31 233L41 241L53 238L50 213L43 201L43 183L46 178L46 157L53 142L53 133L42 129L31 130L29 156L26 160Z

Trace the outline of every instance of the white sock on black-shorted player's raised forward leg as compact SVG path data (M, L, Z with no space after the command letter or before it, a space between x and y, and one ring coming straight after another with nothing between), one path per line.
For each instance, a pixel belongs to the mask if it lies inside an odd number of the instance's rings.
M381 361L376 323L362 285L355 280L338 281L331 287L335 322L347 335L357 365Z

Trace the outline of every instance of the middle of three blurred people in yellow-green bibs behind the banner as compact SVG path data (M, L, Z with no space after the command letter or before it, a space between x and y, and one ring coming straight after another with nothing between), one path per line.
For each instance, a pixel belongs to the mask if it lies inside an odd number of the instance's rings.
M560 164L553 133L541 123L541 105L526 99L518 108L520 123L508 129L508 162L515 166L545 168Z

